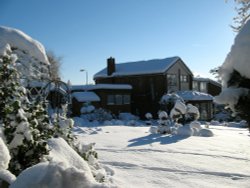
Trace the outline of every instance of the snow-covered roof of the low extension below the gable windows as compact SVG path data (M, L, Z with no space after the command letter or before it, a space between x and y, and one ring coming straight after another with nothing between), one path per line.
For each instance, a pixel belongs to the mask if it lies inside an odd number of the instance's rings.
M177 91L177 95L183 98L185 101L212 101L213 96L207 93L201 93L198 91Z

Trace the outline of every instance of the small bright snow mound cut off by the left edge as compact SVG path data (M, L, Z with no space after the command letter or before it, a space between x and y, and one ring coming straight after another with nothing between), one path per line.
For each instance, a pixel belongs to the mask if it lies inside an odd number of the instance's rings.
M4 141L0 137L0 169L7 169L10 161L10 153Z

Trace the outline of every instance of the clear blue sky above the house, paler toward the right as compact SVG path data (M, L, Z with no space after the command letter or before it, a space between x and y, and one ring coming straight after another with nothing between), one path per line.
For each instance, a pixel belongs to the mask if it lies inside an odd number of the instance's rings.
M63 57L62 79L84 84L119 62L180 56L208 77L235 34L233 0L0 0L0 25L14 27ZM92 81L93 82L93 81Z

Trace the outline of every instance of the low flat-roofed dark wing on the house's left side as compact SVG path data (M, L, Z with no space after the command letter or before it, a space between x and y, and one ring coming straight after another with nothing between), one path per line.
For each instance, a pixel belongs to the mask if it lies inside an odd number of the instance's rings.
M72 85L73 115L80 115L86 102L116 115L131 112L131 90L132 86L126 84Z

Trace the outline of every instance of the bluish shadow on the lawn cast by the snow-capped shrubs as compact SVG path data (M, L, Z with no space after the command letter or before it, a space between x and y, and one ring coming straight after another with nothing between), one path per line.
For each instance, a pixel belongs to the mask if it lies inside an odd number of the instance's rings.
M160 144L173 144L186 138L188 138L188 136L149 134L144 137L129 140L131 144L129 144L128 147L148 145L157 142Z

